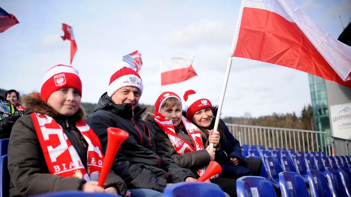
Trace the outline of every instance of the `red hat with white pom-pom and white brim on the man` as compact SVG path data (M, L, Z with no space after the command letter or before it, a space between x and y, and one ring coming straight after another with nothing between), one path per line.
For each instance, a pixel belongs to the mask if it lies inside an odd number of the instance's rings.
M140 90L141 96L144 87L139 74L131 69L127 62L119 62L116 69L117 71L111 76L108 84L107 95L111 97L120 88L132 86Z

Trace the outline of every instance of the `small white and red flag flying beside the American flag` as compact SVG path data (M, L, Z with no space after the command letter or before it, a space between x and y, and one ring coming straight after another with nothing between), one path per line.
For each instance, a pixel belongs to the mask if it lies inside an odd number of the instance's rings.
M192 67L192 60L185 56L161 59L160 70L161 86L182 82L197 75Z

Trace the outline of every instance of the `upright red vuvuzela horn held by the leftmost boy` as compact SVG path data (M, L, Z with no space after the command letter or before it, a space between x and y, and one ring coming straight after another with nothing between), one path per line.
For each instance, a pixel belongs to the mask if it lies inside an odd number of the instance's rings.
M107 128L107 148L105 153L104 162L100 172L98 186L102 187L106 180L108 171L110 171L112 161L121 146L121 144L127 139L129 134L119 128L109 127Z

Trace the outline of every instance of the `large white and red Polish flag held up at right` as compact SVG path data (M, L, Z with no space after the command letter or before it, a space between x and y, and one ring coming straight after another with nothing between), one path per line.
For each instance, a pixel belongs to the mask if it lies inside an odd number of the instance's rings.
M278 64L351 87L351 47L292 0L242 0L231 57Z

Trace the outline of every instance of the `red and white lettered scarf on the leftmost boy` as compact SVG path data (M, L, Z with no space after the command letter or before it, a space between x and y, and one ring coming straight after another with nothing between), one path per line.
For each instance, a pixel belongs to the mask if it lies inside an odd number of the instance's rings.
M86 123L78 121L75 126L88 143L87 170L61 125L39 113L31 113L31 117L51 174L83 178L87 182L99 180L104 155L98 136Z

